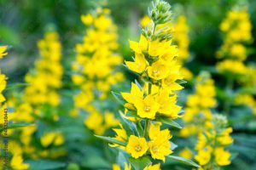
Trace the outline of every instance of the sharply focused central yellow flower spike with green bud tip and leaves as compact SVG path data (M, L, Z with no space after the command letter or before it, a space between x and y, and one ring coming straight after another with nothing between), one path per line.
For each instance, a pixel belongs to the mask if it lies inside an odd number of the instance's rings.
M177 62L177 46L172 45L170 9L169 3L156 0L139 42L130 41L135 57L133 61L125 61L125 65L137 73L143 86L131 82L130 93L114 94L125 105L121 116L128 126L121 124L120 128L113 128L116 136L108 141L112 143L110 146L125 150L131 159L147 159L151 165L144 169L160 169L160 164L153 165L150 160L166 161L166 156L172 154L169 141L172 134L161 125L177 119L181 110L176 102L177 90L183 88L178 81L183 77ZM131 165L134 166L132 161Z

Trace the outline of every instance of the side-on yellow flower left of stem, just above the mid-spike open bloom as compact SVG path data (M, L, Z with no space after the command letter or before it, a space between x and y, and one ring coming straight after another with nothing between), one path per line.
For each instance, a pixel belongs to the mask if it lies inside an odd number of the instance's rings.
M131 93L121 93L121 95L131 104L134 104L136 99L143 99L143 91L133 82L131 82Z

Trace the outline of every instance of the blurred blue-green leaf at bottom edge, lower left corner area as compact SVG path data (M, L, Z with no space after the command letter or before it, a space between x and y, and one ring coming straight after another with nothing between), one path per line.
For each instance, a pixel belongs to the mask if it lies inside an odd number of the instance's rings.
M46 169L59 169L66 167L66 163L61 161L50 161L50 160L37 160L27 161L30 164L29 169L46 170Z

